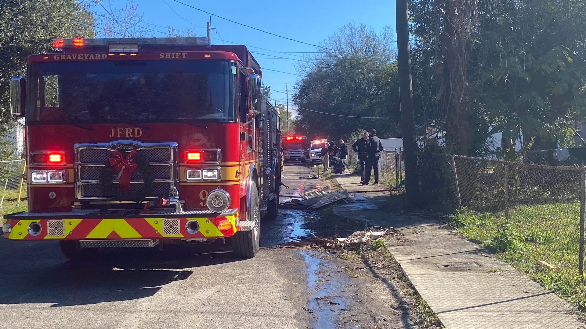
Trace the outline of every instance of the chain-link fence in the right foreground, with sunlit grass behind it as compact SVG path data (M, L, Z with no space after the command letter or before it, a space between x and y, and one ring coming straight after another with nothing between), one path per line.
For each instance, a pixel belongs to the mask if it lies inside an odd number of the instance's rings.
M462 234L529 273L582 277L586 167L448 159L459 207L452 222Z

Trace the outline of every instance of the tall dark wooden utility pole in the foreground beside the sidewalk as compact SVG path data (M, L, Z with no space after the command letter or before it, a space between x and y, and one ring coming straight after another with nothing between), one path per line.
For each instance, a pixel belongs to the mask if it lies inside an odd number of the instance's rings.
M415 119L413 117L413 85L411 82L411 49L409 45L409 11L407 0L396 0L397 53L400 86L401 121L403 122L403 147L405 152L405 190L412 204L417 202L417 156L415 150Z

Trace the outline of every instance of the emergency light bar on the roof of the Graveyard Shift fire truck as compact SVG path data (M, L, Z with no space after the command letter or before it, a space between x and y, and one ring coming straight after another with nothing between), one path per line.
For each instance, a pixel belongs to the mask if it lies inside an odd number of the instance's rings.
M53 47L81 47L110 45L110 52L138 52L139 44L209 44L207 37L133 37L53 39Z

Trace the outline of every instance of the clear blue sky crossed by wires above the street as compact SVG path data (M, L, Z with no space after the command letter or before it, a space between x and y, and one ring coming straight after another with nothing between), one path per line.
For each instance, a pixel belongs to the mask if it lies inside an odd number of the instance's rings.
M206 22L209 20L209 15L206 13L178 4L173 0L135 1L139 11L144 13L146 23L171 25L179 30L192 29L198 35L206 35ZM380 32L385 25L395 26L393 0L180 1L258 29L312 44L318 44L326 39L345 23L364 23L376 32ZM113 0L112 4L122 6L125 0ZM99 6L95 10L103 11ZM274 52L253 53L253 55L261 67L267 69L263 71L263 83L271 86L273 91L271 98L283 104L286 100L285 94L278 91L285 91L285 85L288 84L290 99L299 76L294 75L297 73L294 60L278 59L275 56L301 58L300 56L303 55L301 52L316 52L315 47L271 36L213 16L212 27L216 28L212 31L213 44L222 44L223 39L230 41L226 43L245 44L251 52ZM165 28L155 26L151 28L165 31ZM155 33L155 36L162 36L162 34Z

